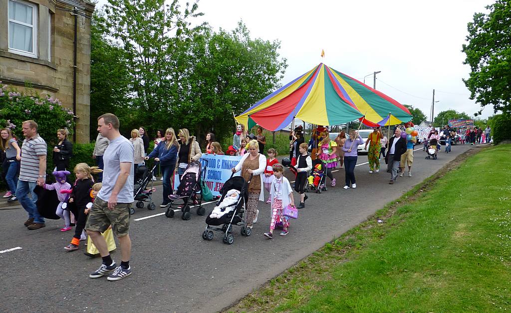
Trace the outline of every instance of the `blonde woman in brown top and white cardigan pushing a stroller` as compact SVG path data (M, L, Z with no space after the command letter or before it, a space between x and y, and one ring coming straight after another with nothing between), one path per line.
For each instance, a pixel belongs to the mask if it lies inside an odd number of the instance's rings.
M259 153L259 143L257 140L251 140L247 144L248 153L245 153L240 162L231 169L233 173L241 170L241 176L248 185L248 204L245 210L246 229L248 236L252 231L252 224L257 221L259 214L258 200L264 201L263 174L266 168L266 157Z

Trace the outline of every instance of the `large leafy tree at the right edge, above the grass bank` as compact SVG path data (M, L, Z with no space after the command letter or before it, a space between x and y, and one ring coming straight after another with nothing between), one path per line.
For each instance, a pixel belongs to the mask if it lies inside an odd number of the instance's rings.
M482 107L493 105L495 113L511 112L511 2L497 0L487 6L489 14L475 13L468 24L468 44L462 51L467 55L464 64L471 68L470 77L463 82ZM482 111L479 110L477 115Z

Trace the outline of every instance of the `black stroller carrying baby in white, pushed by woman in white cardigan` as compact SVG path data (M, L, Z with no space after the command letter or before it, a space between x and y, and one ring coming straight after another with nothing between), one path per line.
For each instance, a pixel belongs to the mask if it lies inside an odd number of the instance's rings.
M233 204L231 207L234 207L233 211L225 213L220 218L211 218L210 214L206 217L206 229L202 232L202 239L204 240L212 240L215 232L222 232L223 242L227 244L233 244L234 235L231 234L233 231L233 225L241 226L241 235L250 236L252 232L250 228L246 228L246 220L245 220L245 207L247 205L248 200L248 184L250 181L245 182L243 177L235 176L234 173L231 174L230 178L225 182L222 187L222 196L216 203L217 206L223 201L226 197L227 192L231 189L236 189L240 191L240 197L238 198L238 202Z

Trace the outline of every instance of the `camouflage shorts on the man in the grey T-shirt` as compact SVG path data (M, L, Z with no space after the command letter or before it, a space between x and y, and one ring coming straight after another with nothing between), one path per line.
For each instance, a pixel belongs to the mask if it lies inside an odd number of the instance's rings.
M129 232L130 208L130 203L118 203L113 210L110 210L108 202L96 197L90 209L85 230L104 233L111 225L115 236L126 236Z

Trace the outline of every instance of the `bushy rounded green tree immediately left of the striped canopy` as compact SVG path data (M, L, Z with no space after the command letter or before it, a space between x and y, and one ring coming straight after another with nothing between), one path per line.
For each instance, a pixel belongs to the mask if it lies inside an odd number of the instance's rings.
M240 114L279 87L287 67L277 53L280 42L252 39L246 26L227 32L206 29L194 37L182 75L183 101L176 105L179 123L194 125L199 138L213 130L224 138ZM193 113L193 114L190 114Z

